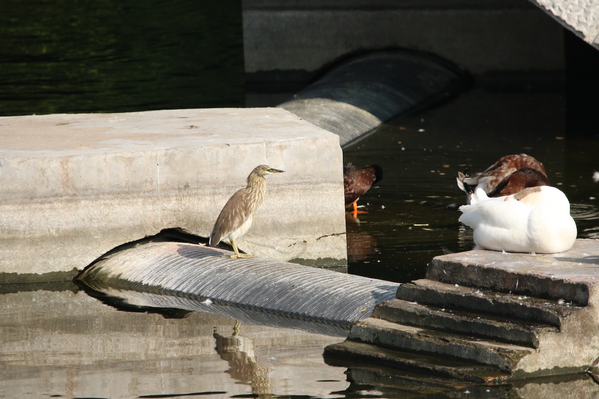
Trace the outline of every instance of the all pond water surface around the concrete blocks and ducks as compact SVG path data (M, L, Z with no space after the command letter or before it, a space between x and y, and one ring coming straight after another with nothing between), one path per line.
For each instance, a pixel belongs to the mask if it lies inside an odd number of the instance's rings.
M239 1L7 1L0 115L243 106L241 29ZM579 236L596 237L597 132L584 126L569 123L559 88L476 86L346 148L346 162L385 170L360 201L368 213L348 219L349 272L407 282L422 278L432 257L470 249L456 173L506 154L541 160L570 198ZM596 391L585 375L472 386L379 365L329 366L323 348L341 336L117 306L70 282L2 289L5 398L557 399Z

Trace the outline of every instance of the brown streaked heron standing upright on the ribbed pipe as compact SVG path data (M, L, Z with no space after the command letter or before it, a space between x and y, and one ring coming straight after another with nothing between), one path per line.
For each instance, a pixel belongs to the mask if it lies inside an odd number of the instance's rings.
M210 233L210 246L216 246L222 239L228 238L235 251L231 258L251 258L240 254L237 240L241 239L252 226L252 219L264 200L266 177L272 173L282 173L285 170L273 169L268 165L258 165L247 176L246 188L240 188L229 198Z

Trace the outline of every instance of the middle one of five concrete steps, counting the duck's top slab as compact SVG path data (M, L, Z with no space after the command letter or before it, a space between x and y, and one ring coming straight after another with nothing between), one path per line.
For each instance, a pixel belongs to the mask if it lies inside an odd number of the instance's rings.
M543 331L558 331L558 328L550 325L530 324L477 313L425 306L400 299L378 304L372 316L414 327L492 339L529 348L539 346L539 334Z

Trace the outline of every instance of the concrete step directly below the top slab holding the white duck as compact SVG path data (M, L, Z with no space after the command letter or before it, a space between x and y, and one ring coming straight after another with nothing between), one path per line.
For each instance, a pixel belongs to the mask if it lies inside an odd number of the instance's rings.
M571 303L517 296L445 284L420 279L403 284L397 298L419 304L465 310L479 315L499 315L503 318L560 327L563 318L580 309Z

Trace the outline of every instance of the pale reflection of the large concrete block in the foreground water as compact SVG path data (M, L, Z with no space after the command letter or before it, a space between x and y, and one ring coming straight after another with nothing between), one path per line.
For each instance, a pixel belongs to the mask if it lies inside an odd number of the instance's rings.
M230 337L233 320L204 312L186 318L120 312L83 291L28 291L34 286L19 285L18 293L0 294L4 397L41 396L31 392L88 398L214 392L208 397L227 399L251 392L234 379L239 374L231 372L231 364L215 348L214 335ZM251 324L242 324L237 337L247 341L240 349L247 351L251 345L253 360L272 370L271 392L325 398L347 388L346 368L326 366L322 358L324 346L339 337ZM324 381L305 383L319 379Z

